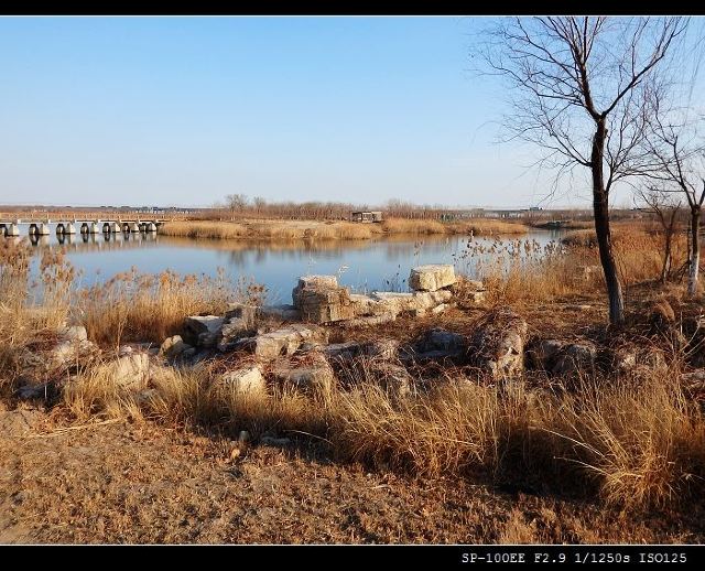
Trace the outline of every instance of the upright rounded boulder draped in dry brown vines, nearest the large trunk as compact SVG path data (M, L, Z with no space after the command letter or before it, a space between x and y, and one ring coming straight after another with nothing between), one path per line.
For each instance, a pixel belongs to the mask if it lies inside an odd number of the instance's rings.
M527 322L511 311L489 313L473 335L470 360L495 380L521 374L527 331Z

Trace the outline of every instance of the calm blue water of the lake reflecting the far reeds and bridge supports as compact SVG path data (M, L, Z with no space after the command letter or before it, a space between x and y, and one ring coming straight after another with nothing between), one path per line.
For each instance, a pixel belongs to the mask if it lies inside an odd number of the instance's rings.
M22 227L21 233L26 237L26 228ZM62 240L52 228L52 235L41 237L34 247L37 254L47 249L66 252L79 270L79 286L106 281L132 267L148 273L170 269L183 274L207 276L216 276L218 268L223 268L234 280L245 277L265 284L270 300L281 303L291 303L296 278L305 273L337 274L340 283L354 291L406 291L406 279L414 266L455 263L458 271L471 274L476 262L475 258L463 256L469 240L464 236L394 236L313 244L193 240L155 234L117 234L108 238L102 234L75 235L59 244ZM535 240L543 247L555 240L556 234L535 231L520 239ZM491 241L474 239L475 244L489 245ZM35 267L37 260L39 256Z

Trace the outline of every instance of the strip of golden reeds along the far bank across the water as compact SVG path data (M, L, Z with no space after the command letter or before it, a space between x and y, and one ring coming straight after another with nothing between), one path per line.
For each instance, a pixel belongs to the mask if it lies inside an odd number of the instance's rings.
M478 218L442 223L389 218L382 223L350 223L344 220L175 220L160 228L164 236L209 239L323 239L360 240L384 235L520 235L531 230L519 222Z

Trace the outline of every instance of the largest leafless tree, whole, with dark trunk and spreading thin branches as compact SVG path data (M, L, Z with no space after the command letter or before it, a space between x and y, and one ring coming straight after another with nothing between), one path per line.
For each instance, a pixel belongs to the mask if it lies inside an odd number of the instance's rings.
M609 226L615 184L639 172L649 85L668 69L681 18L502 19L486 31L485 68L508 80L510 138L539 146L541 165L589 170L609 319L623 322L623 294Z

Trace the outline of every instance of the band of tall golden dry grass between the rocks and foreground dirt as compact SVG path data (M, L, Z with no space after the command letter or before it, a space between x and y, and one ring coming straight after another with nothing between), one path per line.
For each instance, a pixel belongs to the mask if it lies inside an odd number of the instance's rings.
M346 462L596 492L633 509L676 505L705 487L705 419L672 373L629 385L584 379L578 392L549 392L451 371L435 388L402 398L373 373L364 376L349 390L312 401L291 388L236 392L206 367L164 369L139 397L88 371L66 387L64 401L80 418L215 423L254 439L267 431L303 434Z

